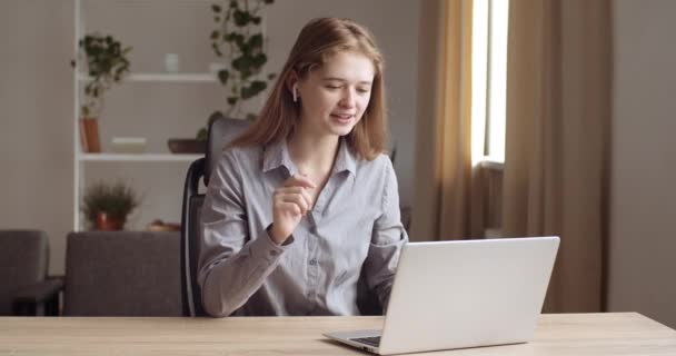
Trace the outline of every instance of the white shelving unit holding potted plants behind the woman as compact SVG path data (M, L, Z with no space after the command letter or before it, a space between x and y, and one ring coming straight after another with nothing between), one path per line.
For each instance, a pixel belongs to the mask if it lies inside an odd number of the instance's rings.
M78 58L79 51L78 42L86 33L84 21L82 18L82 2L83 0L74 0L74 58ZM84 189L84 172L88 162L129 162L129 164L171 164L182 162L183 165L191 162L203 155L177 155L177 154L87 154L82 151L80 142L80 98L82 96L83 83L88 80L88 76L80 72L80 68L76 68L73 71L73 83L74 83L74 105L73 105L73 152L74 152L74 165L73 165L73 230L81 230L82 224L80 219L80 200ZM218 78L215 73L143 73L135 72L128 75L125 82L149 82L149 83L218 83ZM187 168L187 166L186 166Z

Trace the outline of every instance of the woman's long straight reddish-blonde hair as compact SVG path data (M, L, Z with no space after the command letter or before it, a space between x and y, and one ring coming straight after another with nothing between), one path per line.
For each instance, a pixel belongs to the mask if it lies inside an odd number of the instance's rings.
M258 119L230 146L265 146L288 138L300 118L300 103L294 102L288 85L290 76L296 72L299 80L305 79L310 70L321 67L332 55L342 51L364 55L374 63L375 77L368 107L347 135L346 141L359 158L375 159L385 150L387 140L382 55L374 36L365 27L337 18L314 19L302 28Z

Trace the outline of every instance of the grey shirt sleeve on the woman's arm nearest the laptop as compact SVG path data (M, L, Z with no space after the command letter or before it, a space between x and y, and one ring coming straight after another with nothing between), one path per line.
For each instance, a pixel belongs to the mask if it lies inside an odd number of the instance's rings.
M374 224L366 264L369 289L375 290L387 309L399 254L408 235L401 224L397 177L391 161L386 160L381 199L381 214Z

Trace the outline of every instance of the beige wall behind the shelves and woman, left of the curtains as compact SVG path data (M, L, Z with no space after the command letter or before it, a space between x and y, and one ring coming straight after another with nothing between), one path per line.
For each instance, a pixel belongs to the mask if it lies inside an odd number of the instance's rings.
M186 0L83 0L87 30L112 33L133 47L136 71L161 71L163 55L180 55L182 71L215 60L208 36L210 3ZM348 17L369 27L385 52L390 131L397 144L401 202L411 202L417 109L419 2L409 0L278 0L269 8L270 71L278 72L300 28L319 16ZM52 273L64 267L72 229L73 97L68 67L73 48L72 0L0 1L0 228L40 228L51 237ZM148 150L192 137L216 109L218 85L123 83L107 96L100 119L103 149L113 136L148 138ZM129 224L180 220L188 164L87 164L87 182L130 179L145 199Z

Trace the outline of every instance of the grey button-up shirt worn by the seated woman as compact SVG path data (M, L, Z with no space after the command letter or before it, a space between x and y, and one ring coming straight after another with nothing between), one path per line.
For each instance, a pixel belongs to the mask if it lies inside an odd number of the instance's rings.
M408 240L389 158L357 159L341 139L312 210L279 246L266 230L272 192L296 172L284 141L223 151L201 215L198 280L208 314L358 315L362 266L387 306Z

